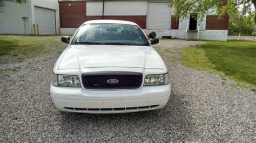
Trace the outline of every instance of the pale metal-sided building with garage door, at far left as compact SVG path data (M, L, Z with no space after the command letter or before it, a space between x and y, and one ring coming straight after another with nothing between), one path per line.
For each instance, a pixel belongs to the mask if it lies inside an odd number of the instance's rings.
M4 3L0 12L0 34L37 34L37 31L39 34L58 34L57 0L26 0L22 4L10 1Z

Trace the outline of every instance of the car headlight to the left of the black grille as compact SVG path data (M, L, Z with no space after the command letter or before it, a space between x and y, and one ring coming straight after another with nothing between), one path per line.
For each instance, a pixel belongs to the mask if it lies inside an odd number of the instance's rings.
M80 87L80 80L77 75L56 75L52 77L52 85L60 87Z

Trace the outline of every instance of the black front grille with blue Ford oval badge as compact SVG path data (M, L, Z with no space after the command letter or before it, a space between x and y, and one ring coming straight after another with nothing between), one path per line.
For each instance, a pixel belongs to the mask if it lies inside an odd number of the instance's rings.
M82 74L86 89L136 89L142 85L143 75L137 72L107 71Z

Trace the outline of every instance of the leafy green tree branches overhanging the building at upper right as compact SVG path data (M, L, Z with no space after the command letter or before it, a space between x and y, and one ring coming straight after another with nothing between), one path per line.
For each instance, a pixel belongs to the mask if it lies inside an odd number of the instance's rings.
M233 15L237 9L241 9L243 15L251 15L252 5L256 9L256 0L171 0L168 3L170 8L175 9L174 17L177 19L187 18L188 13L198 13L199 21L203 20L208 10L212 8L217 9L219 18L225 13ZM254 24L256 24L256 14Z

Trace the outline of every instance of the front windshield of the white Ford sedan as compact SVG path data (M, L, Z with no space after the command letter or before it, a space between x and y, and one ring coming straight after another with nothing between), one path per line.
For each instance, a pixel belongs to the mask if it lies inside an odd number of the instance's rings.
M123 24L82 25L71 44L150 46L139 26Z

